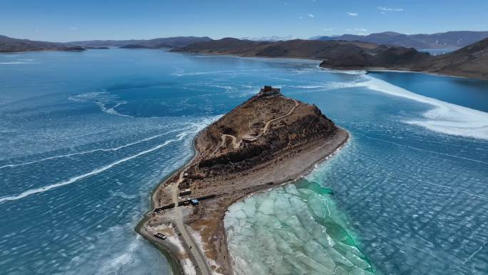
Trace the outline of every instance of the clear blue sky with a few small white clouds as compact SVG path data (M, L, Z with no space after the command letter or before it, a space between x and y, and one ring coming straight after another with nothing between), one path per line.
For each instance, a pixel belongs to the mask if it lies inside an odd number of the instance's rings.
M73 41L488 30L488 0L0 0L0 34Z

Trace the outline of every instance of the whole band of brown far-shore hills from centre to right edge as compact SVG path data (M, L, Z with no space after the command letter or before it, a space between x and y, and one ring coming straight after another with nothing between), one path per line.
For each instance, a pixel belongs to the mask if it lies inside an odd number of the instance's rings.
M233 38L174 49L177 52L322 60L329 69L395 69L488 79L488 39L442 56L413 48L360 41L250 41Z

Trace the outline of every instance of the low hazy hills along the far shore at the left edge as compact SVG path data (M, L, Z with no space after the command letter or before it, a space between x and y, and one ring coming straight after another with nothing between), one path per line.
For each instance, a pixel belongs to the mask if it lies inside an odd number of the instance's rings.
M14 39L0 35L0 52L12 51L84 51L85 49L122 48L180 48L196 42L210 41L208 37L178 36L148 40L91 40L67 43Z

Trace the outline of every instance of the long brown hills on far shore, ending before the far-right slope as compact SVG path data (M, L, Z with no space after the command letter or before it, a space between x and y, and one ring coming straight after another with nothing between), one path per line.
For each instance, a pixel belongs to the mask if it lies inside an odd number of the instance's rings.
M429 54L400 46L377 45L360 41L289 40L258 42L220 39L191 44L173 51L238 56L285 57L323 60L320 66L333 69L395 67L409 69L429 58Z

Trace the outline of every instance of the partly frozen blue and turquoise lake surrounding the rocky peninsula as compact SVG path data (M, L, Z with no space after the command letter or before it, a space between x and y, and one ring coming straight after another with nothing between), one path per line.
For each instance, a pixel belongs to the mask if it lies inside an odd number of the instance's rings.
M200 129L273 85L351 139L305 180L231 207L238 269L487 274L488 81L317 65L145 49L0 54L0 273L168 274L133 231L151 190L190 159Z

